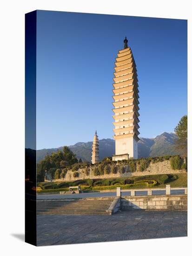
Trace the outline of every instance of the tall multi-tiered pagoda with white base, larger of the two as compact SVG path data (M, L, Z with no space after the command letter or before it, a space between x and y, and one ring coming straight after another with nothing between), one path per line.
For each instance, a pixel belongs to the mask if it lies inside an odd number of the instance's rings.
M132 50L124 40L124 49L119 50L115 62L113 84L113 129L115 155L113 161L138 158L139 135L139 90L136 64Z

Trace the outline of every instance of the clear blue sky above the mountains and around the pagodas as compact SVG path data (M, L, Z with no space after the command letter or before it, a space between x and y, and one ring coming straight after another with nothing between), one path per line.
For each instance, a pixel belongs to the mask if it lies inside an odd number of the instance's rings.
M112 83L125 36L137 65L140 137L187 114L187 21L38 11L37 149L113 138Z

